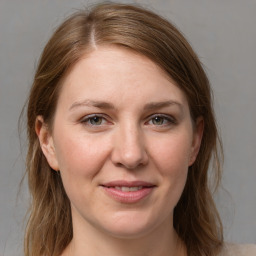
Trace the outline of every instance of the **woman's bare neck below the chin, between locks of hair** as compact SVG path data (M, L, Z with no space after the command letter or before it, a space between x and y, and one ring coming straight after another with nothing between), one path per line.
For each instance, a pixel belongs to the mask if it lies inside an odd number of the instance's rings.
M121 238L90 224L73 223L73 239L62 256L185 256L172 222L140 237Z

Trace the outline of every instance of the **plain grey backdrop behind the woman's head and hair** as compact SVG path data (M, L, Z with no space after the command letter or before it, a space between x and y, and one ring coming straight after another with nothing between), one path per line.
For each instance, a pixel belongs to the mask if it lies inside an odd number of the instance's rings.
M22 255L28 205L25 136L17 122L35 66L53 29L96 1L0 0L0 255ZM131 1L122 1L131 2ZM172 20L211 80L224 142L223 187L216 195L225 238L256 243L256 0L137 1ZM17 197L18 194L18 197Z

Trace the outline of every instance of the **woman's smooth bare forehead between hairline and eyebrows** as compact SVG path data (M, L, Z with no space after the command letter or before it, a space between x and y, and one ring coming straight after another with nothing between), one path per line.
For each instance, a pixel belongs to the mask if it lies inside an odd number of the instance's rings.
M186 104L181 89L150 59L120 47L99 47L73 66L63 81L59 100L104 98L121 103L170 97Z

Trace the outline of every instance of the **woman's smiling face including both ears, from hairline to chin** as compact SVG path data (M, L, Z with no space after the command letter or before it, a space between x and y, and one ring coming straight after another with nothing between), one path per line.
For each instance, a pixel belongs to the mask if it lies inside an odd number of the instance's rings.
M63 82L52 133L41 117L36 130L74 226L115 237L172 227L202 121L152 61L117 47L87 54Z

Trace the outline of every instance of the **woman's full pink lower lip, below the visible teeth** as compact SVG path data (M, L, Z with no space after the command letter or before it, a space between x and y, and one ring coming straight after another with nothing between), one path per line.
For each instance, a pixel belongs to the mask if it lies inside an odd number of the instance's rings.
M147 197L154 187L144 187L137 191L122 191L114 187L103 187L108 196L120 203L137 203Z

